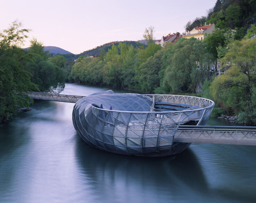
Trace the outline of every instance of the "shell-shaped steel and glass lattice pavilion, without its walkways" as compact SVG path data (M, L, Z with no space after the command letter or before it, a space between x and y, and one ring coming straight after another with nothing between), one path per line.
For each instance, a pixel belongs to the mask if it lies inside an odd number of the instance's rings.
M190 143L174 142L181 124L205 125L214 102L179 95L96 93L73 108L73 124L89 145L129 155L166 156Z

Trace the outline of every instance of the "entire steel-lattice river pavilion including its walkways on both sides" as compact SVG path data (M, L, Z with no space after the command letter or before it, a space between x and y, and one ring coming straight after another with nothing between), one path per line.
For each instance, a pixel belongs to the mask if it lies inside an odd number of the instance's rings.
M182 95L29 92L33 99L75 103L73 124L91 146L119 154L165 156L191 143L256 145L256 127L204 126L214 102ZM192 125L191 125L192 124Z

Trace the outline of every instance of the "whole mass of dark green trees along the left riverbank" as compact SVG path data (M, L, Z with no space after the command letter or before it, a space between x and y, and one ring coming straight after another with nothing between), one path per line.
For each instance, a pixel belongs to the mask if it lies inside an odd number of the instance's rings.
M29 29L14 21L0 32L0 121L29 108L33 100L23 92L60 92L64 88L64 71L48 61L48 52L33 38L30 49L21 49Z

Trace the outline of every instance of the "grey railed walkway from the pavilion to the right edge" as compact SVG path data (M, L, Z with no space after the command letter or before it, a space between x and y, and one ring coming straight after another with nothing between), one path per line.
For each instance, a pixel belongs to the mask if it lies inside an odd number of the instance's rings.
M256 127L181 125L174 142L256 145Z

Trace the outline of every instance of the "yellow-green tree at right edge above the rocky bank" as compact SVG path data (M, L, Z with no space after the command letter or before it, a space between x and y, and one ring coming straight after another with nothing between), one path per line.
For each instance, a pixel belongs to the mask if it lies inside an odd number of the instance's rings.
M230 68L213 81L210 91L216 101L222 101L233 113L244 111L249 115L255 112L252 98L256 87L256 38L235 41L229 47L221 61Z

